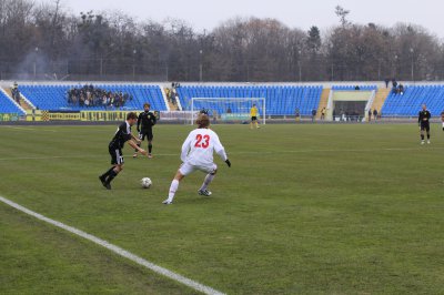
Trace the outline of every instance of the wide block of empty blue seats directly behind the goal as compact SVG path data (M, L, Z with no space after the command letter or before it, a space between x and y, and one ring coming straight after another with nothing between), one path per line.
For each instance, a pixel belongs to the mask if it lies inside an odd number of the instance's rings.
M180 87L178 93L183 110L191 110L192 98L208 98L205 102L195 101L193 108L215 110L219 113L225 113L229 109L233 113L248 113L255 103L262 114L262 102L259 100L222 100L250 98L265 99L266 113L271 115L293 115L296 109L302 115L310 115L313 110L317 110L322 87Z

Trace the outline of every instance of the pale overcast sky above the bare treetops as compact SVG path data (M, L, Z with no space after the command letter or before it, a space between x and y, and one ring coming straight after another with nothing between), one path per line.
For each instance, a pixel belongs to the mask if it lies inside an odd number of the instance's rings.
M41 0L53 2L53 0ZM233 17L275 18L291 28L326 29L339 22L334 8L351 10L349 20L387 27L411 22L444 38L443 0L62 0L73 12L121 10L138 18L185 20L199 31L212 30Z

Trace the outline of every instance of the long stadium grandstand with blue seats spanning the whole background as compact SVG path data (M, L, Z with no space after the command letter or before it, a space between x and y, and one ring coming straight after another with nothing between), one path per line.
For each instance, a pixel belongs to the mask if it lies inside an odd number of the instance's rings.
M377 110L383 119L391 118L412 118L416 116L421 104L425 103L432 114L437 115L444 110L444 85L441 84L416 84L406 85L402 92L396 89L385 88L382 83L313 83L313 84L245 84L245 83L205 83L184 85L174 89L178 102L172 103L169 95L172 89L167 84L133 84L133 83L93 83L90 85L74 83L23 83L19 85L21 102L17 103L10 93L10 88L2 84L0 91L0 113L13 113L24 116L28 110L42 110L48 112L81 112L81 111L130 111L141 110L144 102L151 103L152 110L159 112L181 112L191 110L191 100L199 98L211 99L203 103L200 100L194 110L208 109L219 114L225 113L228 109L233 113L248 112L250 104L241 105L233 102L225 104L219 103L223 99L265 99L266 115L272 119L294 116L295 111L301 116L312 116L316 110L316 119L320 119L322 109L333 113L335 109L334 100L342 101L337 105L343 105L343 101L365 100L365 112ZM114 93L123 95L124 103L112 105L98 98L95 103L73 103L70 91L81 90L84 87L93 87L100 93ZM356 95L353 95L355 91ZM344 93L341 98L340 93ZM369 94L363 99L363 93ZM113 95L114 95L113 94ZM82 94L83 95L83 94ZM90 94L88 94L90 95ZM107 94L108 95L108 94ZM84 99L87 92L84 93ZM357 99L360 98L360 99ZM91 99L90 99L91 100ZM92 101L92 100L91 100ZM353 104L356 105L356 104ZM360 108L364 108L361 103ZM260 113L262 113L262 105ZM354 108L354 106L353 106ZM365 119L364 110L360 109L361 119ZM337 110L336 110L337 114ZM337 116L337 115L336 115ZM326 121L334 120L326 116Z

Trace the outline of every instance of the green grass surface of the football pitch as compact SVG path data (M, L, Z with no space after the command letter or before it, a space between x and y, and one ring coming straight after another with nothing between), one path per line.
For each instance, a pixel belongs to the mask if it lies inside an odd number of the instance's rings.
M213 196L195 173L171 206L191 126L157 126L151 160L127 146L107 191L115 128L0 126L0 195L230 294L442 293L437 125L430 146L413 124L216 125L233 166L215 156ZM6 292L193 293L4 204L0 220Z

